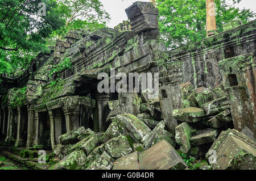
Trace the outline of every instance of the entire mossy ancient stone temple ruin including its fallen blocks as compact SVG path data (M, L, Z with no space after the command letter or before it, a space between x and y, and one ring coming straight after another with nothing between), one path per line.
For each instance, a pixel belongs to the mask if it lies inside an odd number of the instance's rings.
M53 169L187 168L176 150L209 162L215 151L213 169L256 169L256 21L167 50L153 3L126 14L115 29L71 30L28 69L1 75L2 146L53 150ZM159 91L100 93L100 73L151 73Z

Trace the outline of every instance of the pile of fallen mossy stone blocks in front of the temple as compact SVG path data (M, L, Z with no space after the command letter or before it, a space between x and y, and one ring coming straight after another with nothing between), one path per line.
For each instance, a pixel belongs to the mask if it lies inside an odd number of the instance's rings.
M232 129L221 87L180 87L184 108L172 112L175 134L167 131L158 98L119 93L109 101L106 132L80 127L61 135L54 151L62 160L51 169L188 169L181 154L206 159L199 169L256 169L256 142Z

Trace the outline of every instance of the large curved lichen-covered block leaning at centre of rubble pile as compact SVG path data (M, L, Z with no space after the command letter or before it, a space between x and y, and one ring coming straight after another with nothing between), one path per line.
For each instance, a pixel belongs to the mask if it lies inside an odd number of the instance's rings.
M118 115L117 119L121 121L121 123L125 124L125 127L138 141L141 141L144 136L151 132L151 129L134 115L122 114Z

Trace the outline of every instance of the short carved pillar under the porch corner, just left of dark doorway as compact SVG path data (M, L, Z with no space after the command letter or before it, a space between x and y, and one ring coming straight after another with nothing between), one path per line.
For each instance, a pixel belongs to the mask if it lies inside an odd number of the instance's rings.
M66 119L67 132L79 128L80 106L64 106L63 111Z

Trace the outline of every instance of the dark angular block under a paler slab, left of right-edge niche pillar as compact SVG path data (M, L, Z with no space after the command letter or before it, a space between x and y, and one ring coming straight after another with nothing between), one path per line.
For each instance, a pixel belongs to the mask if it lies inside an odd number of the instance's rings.
M230 117L229 115L230 111L225 110L219 113L218 115L214 116L212 119L208 120L207 123L209 123L212 128L220 128L226 123L229 123L229 121L232 121L232 117Z

